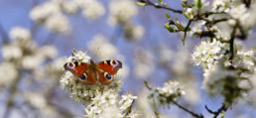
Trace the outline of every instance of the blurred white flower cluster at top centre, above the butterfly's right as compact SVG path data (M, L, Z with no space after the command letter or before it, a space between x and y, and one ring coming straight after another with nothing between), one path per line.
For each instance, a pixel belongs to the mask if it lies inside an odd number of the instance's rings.
M128 40L139 40L144 34L144 28L133 25L131 19L138 14L138 8L131 0L112 0L109 5L110 25L121 25L124 28L125 37Z

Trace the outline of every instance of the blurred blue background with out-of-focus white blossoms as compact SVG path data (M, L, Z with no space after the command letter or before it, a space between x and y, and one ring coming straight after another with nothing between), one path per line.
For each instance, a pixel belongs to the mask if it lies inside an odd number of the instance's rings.
M152 2L157 2L157 0ZM182 10L181 1L165 1ZM188 21L168 11L173 19ZM181 101L205 117L205 110L221 106L221 97L209 97L202 89L202 70L191 64L193 47L200 41L164 28L165 10L139 7L135 0L0 0L0 117L69 118L84 115L59 82L65 58L83 50L94 61L119 59L122 93L133 93L134 107L142 117L154 117L147 80L162 86L169 79L181 82L187 94ZM245 44L255 48L255 33ZM253 99L248 96L248 99ZM231 117L255 117L255 107L239 101L226 113ZM162 116L192 117L177 106L160 107Z

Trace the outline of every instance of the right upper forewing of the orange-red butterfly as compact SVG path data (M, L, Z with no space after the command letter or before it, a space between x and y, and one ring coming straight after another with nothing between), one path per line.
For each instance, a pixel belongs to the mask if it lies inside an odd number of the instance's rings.
M105 60L96 63L96 68L107 71L110 74L115 74L119 68L122 68L122 62L119 60Z

